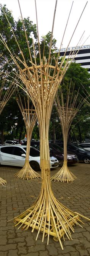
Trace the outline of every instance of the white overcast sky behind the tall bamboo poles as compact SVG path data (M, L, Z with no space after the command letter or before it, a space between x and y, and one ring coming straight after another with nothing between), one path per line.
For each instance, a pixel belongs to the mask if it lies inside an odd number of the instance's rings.
M71 15L69 18L69 23L67 26L66 34L63 39L63 48L69 43L70 37L75 29L77 21L80 18L82 10L87 1L85 0L74 0ZM6 4L6 7L9 10L12 10L13 17L15 20L20 16L20 10L18 5L18 0L0 0L2 5ZM30 20L36 24L36 15L35 15L35 2L34 0L19 0L21 11L24 17L30 17ZM39 28L39 37L45 36L49 31L51 31L53 23L53 14L55 10L55 0L36 0L37 4L37 16L38 16L38 28ZM55 16L55 25L53 31L53 37L57 40L56 46L59 48L60 43L63 37L64 29L67 23L67 18L69 11L71 9L72 1L71 0L58 0ZM76 46L79 42L81 35L84 33L82 43L90 35L90 0L88 0L87 6L84 10L84 13L80 19L79 25L76 29L76 32L73 36L73 39L69 46ZM79 45L82 45L79 43ZM84 43L84 45L90 44L90 37Z

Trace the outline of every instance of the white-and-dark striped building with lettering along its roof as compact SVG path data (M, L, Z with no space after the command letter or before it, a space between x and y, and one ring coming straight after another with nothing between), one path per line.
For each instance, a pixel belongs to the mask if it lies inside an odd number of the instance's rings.
M80 50L79 50L80 49ZM62 57L66 51L66 59L69 57L71 58L71 55L69 56L70 52L74 50L79 50L77 53L76 57L74 58L74 61L76 63L80 63L82 68L88 68L88 73L90 73L90 45L83 45L82 47L77 46L77 47L68 47L67 51L66 48L61 48L60 50L60 57ZM55 52L58 52L59 49L57 49ZM73 57L73 55L72 55Z

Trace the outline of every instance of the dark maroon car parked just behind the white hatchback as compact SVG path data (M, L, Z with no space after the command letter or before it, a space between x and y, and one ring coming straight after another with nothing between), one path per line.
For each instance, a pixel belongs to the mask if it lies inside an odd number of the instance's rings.
M31 146L40 149L40 141L31 141ZM59 161L59 166L63 165L64 154L63 148L58 144L49 142L50 156L55 156ZM75 153L67 152L67 164L76 164L78 158Z

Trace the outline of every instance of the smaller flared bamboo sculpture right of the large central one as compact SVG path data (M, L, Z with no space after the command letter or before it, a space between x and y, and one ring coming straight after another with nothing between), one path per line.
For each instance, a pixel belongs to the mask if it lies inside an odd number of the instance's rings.
M60 87L55 97L55 106L58 112L59 121L61 124L62 133L63 133L64 162L63 162L62 168L59 170L58 173L56 173L51 178L51 180L61 181L61 182L66 181L67 183L74 181L76 179L76 176L72 172L70 172L70 170L67 167L67 139L68 139L71 123L74 117L76 116L77 112L79 111L80 107L84 103L83 99L81 99L80 102L77 103L77 97L78 97L79 91L76 94L74 94L74 89L75 88L73 86L73 90L71 92L71 83L70 83L69 89L67 89L67 97L64 97L62 89ZM61 100L59 95L61 96Z

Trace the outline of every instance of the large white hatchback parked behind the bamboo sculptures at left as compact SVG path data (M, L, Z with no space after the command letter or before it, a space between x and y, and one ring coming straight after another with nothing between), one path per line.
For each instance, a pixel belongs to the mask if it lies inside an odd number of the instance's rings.
M0 146L0 164L23 166L26 157L26 146ZM40 170L40 151L30 147L29 163L33 170ZM56 157L50 157L50 168L58 167Z

